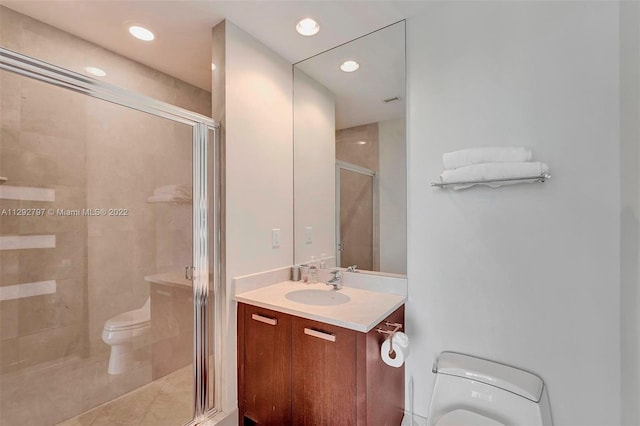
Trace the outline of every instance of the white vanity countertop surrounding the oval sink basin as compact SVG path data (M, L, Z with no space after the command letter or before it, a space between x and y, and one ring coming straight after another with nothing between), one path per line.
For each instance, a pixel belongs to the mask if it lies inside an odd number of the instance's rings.
M308 305L288 299L287 293L296 290L334 292L324 283L305 284L283 281L257 290L237 294L235 300L302 318L321 321L339 327L366 333L380 321L402 306L407 298L397 294L342 287L337 290L350 298L349 301L332 306Z

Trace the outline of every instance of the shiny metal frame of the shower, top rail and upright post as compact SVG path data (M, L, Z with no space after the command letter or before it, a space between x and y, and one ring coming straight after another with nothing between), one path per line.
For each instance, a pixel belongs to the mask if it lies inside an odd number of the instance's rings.
M135 92L96 80L39 59L0 47L0 69L25 77L73 90L117 105L142 111L157 117L191 126L193 141L193 301L194 301L194 413L187 425L197 425L218 412L221 394L221 309L220 277L223 265L220 242L220 124L210 117L143 96ZM208 133L213 131L213 147ZM213 152L210 151L212 149ZM213 165L209 160L213 159ZM213 166L211 170L210 166ZM213 200L209 200L209 173L214 178ZM209 235L209 209L213 209L213 235ZM212 239L213 244L210 244ZM209 253L209 246L213 253ZM209 259L213 256L213 272ZM213 294L209 293L209 280L213 281ZM213 296L213 306L210 306ZM209 330L210 308L215 317L214 330ZM214 407L209 407L208 374L210 335L213 332L213 359L215 382Z

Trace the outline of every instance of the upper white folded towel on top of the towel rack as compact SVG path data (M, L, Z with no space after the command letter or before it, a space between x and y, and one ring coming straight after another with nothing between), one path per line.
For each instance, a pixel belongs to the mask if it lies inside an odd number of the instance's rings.
M470 148L460 151L447 152L442 155L445 170L480 163L512 163L531 161L533 154L529 148L518 146L495 146L485 148Z

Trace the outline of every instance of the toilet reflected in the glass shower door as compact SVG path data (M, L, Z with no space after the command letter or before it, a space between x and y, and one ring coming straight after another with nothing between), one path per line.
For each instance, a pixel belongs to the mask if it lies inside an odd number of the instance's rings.
M109 374L121 374L133 363L136 349L147 344L151 322L151 298L133 311L108 319L102 330L102 341L111 346Z

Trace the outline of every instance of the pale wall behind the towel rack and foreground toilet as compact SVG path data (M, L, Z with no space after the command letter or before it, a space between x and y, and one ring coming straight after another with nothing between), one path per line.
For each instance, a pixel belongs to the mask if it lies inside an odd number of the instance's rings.
M417 414L425 366L453 350L539 374L556 425L620 423L618 38L615 2L434 2L409 19ZM553 178L429 187L442 153L493 145L533 148Z

